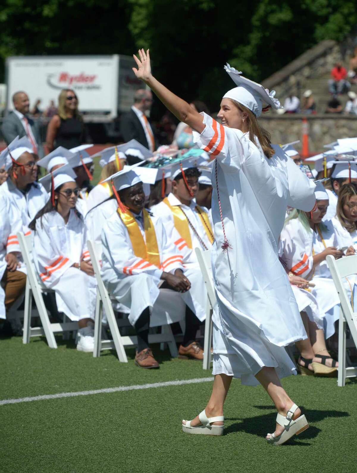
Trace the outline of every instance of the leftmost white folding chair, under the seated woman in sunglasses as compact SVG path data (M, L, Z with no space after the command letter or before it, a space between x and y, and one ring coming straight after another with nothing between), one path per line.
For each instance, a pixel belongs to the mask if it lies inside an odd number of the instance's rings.
M54 333L64 333L78 329L78 322L63 322L51 324L47 309L45 307L42 294L44 292L53 292L52 289L46 288L39 275L36 272L34 263L32 262L32 236L25 236L23 232L17 233L18 242L20 244L21 254L26 264L27 278L25 288L25 310L24 310L24 332L22 337L23 343L29 343L31 337L45 335L48 346L57 348ZM42 323L42 327L31 327L32 317L32 296L36 303L38 315Z

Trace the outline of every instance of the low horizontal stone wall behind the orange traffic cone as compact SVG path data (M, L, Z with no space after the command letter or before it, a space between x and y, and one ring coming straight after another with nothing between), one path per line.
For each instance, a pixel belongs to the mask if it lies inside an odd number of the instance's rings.
M289 143L301 140L303 115L285 114L261 116L258 120L272 135L272 143ZM324 150L323 145L336 141L338 138L357 137L357 117L331 115L308 115L306 116L309 125L309 151L319 153ZM301 150L301 142L296 145Z

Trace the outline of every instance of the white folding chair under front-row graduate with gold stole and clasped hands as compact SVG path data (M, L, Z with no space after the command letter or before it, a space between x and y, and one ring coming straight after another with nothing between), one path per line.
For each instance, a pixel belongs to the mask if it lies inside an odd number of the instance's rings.
M90 240L87 241L91 262L93 265L95 279L97 280L97 301L95 307L95 321L94 321L94 350L93 357L99 357L102 350L111 350L115 348L118 359L121 362L127 363L127 355L124 347L133 347L137 345L137 337L135 335L121 336L118 328L118 323L114 315L112 302L116 300L110 299L107 288L101 278L101 265L98 258L97 246ZM102 340L102 309L104 308L105 315L110 328L112 340ZM178 350L175 339L171 332L170 325L162 325L161 333L149 334L149 343L167 342L172 357L178 356Z

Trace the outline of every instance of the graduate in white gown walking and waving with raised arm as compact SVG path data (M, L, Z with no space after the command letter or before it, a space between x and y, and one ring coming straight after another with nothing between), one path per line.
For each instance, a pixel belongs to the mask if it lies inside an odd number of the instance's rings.
M257 124L263 101L279 101L259 84L230 68L238 85L221 101L222 124L198 114L156 79L149 52L134 56L136 77L194 130L196 144L216 158L212 168L212 219L215 241L212 269L218 307L213 314L213 374L210 401L194 420L183 421L187 433L221 435L223 403L232 377L261 383L278 411L269 443L280 445L307 429L305 415L289 398L280 377L296 373L284 346L306 338L306 332L279 261L278 240L287 206L310 211L314 184L301 173L268 133ZM223 250L223 251L222 251Z

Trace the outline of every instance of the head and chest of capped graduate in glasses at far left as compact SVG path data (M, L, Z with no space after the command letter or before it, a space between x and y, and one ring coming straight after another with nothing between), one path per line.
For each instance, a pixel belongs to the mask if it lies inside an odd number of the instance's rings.
M8 178L1 184L0 193L8 197L14 209L14 216L21 219L22 231L26 234L31 220L49 200L42 184L36 182L37 155L30 141L24 136L13 140L0 153L0 161L6 162L8 170ZM24 271L26 272L26 269Z

